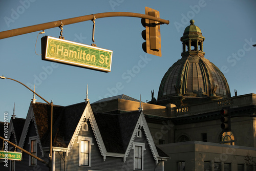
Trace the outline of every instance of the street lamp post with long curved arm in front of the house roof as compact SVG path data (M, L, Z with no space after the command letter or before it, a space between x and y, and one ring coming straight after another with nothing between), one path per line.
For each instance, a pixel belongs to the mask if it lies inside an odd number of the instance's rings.
M52 170L52 115L53 115L53 103L52 101L51 102L48 102L46 99L42 98L39 94L37 94L36 92L34 92L33 90L31 90L28 86L26 86L24 83L22 82L19 82L15 79L12 79L12 78L7 78L7 77L4 77L4 76L0 76L0 78L2 79L11 79L13 81L16 81L20 84L22 84L23 86L25 86L27 89L29 89L31 92L35 93L38 97L40 97L42 100L44 100L45 102L47 102L50 106L51 106L51 130L50 130L50 161L49 161L49 164L48 166L50 167L50 170Z

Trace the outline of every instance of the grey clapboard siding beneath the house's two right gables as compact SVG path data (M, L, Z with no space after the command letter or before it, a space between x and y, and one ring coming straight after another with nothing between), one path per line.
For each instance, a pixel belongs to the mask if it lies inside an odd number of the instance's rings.
M103 160L103 156L101 156L97 141L94 137L92 127L90 122L88 122L89 131L80 131L79 136L84 137L93 137L93 144L91 145L91 166L79 166L79 144L78 137L75 140L75 143L72 146L71 152L69 153L66 159L66 170L133 170L133 162L134 162L134 152L131 149L129 156L126 158L126 161L123 162L123 158L118 157L106 157L106 160ZM146 150L144 151L144 170L155 170L157 166L156 161L153 157L153 154L150 149L150 145L147 143L145 134L142 131L141 138L135 138L135 142L140 142L145 144ZM56 158L57 159L57 158ZM58 159L58 161L60 161ZM56 164L55 166L59 166ZM56 171L60 170L60 168L56 168ZM156 170L162 171L162 163L160 163Z

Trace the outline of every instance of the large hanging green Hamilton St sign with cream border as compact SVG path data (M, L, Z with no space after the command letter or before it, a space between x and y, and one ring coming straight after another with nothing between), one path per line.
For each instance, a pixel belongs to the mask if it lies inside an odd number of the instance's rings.
M103 72L111 71L113 53L111 50L50 36L41 38L41 50L42 60Z

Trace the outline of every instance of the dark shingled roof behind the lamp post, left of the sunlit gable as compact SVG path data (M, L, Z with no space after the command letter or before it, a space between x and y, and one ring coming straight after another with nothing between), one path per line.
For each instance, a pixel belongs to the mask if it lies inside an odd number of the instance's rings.
M51 123L50 105L36 102L32 103L32 106L42 147L48 147ZM53 146L68 146L85 108L84 102L69 106L53 105Z

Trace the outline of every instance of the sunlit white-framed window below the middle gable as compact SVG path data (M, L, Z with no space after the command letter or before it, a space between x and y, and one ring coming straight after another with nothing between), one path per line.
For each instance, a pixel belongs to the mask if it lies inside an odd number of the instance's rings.
M78 136L79 143L79 166L91 166L91 145L93 145L91 137Z

